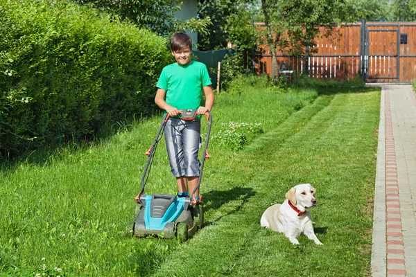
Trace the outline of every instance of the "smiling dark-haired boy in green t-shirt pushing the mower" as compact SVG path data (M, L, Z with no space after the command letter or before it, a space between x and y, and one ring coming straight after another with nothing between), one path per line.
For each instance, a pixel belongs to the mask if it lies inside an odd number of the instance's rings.
M177 195L184 197L198 186L201 125L200 116L192 121L182 120L179 110L198 109L199 115L205 114L211 111L215 96L207 66L191 60L191 37L185 33L173 35L171 52L176 62L162 70L156 85L155 103L171 116L164 128L166 150L172 175L176 177ZM200 106L202 91L205 94L205 106ZM193 195L192 202L199 202L199 189Z

